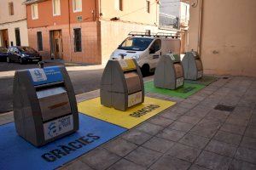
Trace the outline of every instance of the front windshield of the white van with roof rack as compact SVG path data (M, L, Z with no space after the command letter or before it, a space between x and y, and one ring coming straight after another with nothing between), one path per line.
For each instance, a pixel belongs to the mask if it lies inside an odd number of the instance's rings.
M127 37L125 41L119 45L119 49L144 51L152 41L152 38Z

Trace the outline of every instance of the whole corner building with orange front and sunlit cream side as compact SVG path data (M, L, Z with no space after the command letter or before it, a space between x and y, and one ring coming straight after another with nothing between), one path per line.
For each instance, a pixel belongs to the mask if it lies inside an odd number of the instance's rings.
M130 31L159 31L157 0L26 0L26 14L44 59L105 64Z

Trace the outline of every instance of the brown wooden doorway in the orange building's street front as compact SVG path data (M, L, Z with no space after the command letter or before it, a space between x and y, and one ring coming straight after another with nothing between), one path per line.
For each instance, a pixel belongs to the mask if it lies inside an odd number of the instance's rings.
M51 59L63 59L63 44L61 30L49 31Z

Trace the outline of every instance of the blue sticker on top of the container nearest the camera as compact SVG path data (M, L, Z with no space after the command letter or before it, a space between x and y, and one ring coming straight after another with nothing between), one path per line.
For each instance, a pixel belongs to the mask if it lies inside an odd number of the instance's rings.
M61 70L59 66L50 66L35 69L27 70L31 77L34 86L38 86L41 84L47 84L51 82L61 82L63 81L63 77L61 74Z

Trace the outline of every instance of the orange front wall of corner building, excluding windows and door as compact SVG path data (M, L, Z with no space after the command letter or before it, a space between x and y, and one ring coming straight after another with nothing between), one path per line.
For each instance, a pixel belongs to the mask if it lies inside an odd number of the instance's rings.
M38 3L37 20L32 20L32 5L26 5L28 41L32 48L38 49L37 32L42 31L43 51L39 53L44 59L50 59L49 31L61 30L64 60L101 64L101 29L99 22L95 21L97 17L96 14L98 14L96 11L96 2L97 1L83 0L82 12L73 13L73 0L61 0L60 16L53 16L52 0L40 2ZM68 13L68 8L70 9L70 13ZM81 15L83 21L79 22L77 21L77 16ZM81 52L74 52L74 28L81 28Z

